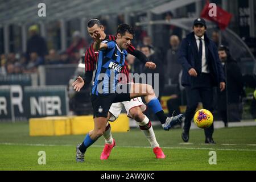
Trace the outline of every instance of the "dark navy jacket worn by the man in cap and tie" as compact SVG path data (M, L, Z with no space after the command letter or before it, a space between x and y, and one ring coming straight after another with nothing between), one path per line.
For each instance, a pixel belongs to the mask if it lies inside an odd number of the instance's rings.
M218 57L217 47L206 34L204 34L204 40L205 56L207 58L210 75L212 76L212 84L213 86L218 86L220 82L225 81L225 76L221 61ZM183 86L193 86L196 77L189 76L188 71L191 68L195 68L196 61L199 61L199 53L194 32L191 32L182 40L179 49L179 61L183 67L181 84ZM199 74L199 72L197 72L197 74Z

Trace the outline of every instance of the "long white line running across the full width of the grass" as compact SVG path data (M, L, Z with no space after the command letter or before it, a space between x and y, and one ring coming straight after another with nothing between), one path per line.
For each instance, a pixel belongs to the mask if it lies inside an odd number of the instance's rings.
M76 147L76 144L32 144L32 143L0 143L2 145L9 146L73 146ZM209 145L209 144L208 144ZM211 144L212 145L212 144ZM104 147L93 145L91 147ZM115 146L120 148L151 148L146 146ZM254 149L240 149L240 148L200 148L200 147L161 147L166 149L187 149L187 150L224 150L224 151L256 151Z

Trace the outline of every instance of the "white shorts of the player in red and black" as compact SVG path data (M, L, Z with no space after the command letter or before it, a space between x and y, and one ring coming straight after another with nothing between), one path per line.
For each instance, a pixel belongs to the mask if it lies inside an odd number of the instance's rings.
M109 112L111 113L109 121L115 121L115 119L118 118L123 106L125 106L125 110L127 111L127 117L130 118L132 118L130 115L130 109L132 109L133 107L141 107L142 112L147 109L147 106L144 105L141 97L133 98L131 99L131 101L113 103L109 109Z

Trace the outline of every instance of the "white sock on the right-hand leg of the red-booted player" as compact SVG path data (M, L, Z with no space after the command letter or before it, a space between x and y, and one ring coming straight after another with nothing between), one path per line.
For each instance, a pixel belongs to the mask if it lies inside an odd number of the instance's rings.
M145 116L142 122L137 122L139 126L145 126L149 122L149 119ZM152 148L159 147L158 142L155 138L155 133L153 130L153 126L150 127L148 130L141 130L143 131L145 137L147 138L148 142L150 142L150 145Z

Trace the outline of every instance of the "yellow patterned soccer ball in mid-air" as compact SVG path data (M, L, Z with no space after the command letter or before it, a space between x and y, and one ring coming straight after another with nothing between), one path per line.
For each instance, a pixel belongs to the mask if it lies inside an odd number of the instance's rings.
M200 109L194 115L194 122L196 126L200 127L201 129L206 129L213 123L213 115L210 113L209 110Z

